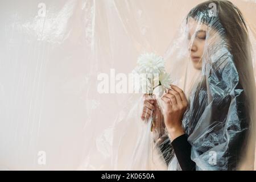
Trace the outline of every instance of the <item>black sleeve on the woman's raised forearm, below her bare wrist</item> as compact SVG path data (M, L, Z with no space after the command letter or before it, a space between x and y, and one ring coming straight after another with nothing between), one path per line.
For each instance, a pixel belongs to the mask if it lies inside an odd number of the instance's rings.
M181 169L183 171L195 171L196 163L191 160L191 144L188 143L187 134L177 137L171 144Z

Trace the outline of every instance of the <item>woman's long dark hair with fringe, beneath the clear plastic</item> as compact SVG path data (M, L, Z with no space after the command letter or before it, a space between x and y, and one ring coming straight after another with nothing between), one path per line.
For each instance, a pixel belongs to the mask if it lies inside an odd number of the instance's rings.
M216 16L210 16L212 3L216 5ZM255 85L251 47L248 29L241 11L230 1L211 0L194 7L187 15L188 18L207 24L225 38L228 49L233 56L234 65L239 75L240 84L245 89L247 97L254 96L252 85Z

